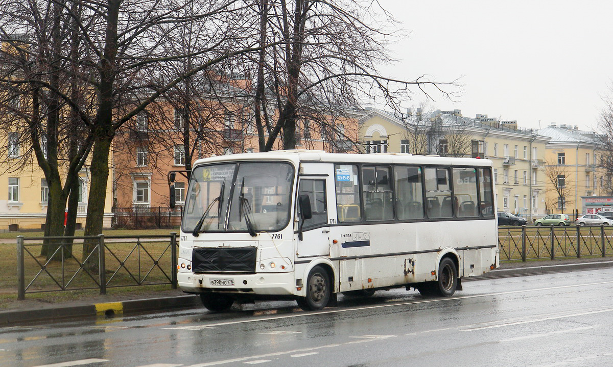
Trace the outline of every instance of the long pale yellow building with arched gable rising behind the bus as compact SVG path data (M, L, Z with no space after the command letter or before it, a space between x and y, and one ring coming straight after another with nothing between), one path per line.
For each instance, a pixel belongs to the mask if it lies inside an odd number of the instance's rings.
M409 110L394 116L370 109L360 119L365 153L398 152L481 157L492 160L497 210L532 220L546 213L544 157L549 138L521 130L516 121L487 115L463 117L462 111Z

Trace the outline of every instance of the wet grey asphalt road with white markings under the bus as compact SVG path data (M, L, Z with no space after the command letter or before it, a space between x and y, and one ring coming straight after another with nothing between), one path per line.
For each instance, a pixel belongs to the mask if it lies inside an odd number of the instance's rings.
M0 328L0 366L611 366L613 270Z

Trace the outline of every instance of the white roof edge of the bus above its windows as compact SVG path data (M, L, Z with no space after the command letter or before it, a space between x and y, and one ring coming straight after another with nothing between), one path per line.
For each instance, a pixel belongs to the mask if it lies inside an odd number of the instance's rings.
M479 158L452 158L440 157L438 155L412 155L405 153L326 153L323 150L306 149L272 150L264 153L218 155L215 157L197 160L196 163L194 163L194 166L206 163L248 160L284 160L292 161L295 165L298 165L302 161L330 163L397 163L416 165L492 166L491 160Z

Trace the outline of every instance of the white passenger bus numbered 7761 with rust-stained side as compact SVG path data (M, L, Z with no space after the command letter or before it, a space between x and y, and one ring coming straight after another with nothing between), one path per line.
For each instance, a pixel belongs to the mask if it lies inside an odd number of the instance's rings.
M498 266L491 167L317 150L198 160L178 285L214 311L257 299L321 310L337 292L392 287L450 296L463 277Z

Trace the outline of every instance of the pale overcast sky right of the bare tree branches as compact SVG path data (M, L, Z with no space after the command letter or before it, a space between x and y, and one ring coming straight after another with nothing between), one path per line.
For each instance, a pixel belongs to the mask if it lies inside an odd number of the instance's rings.
M405 80L462 77L462 115L597 127L613 80L613 1L379 0L411 32L392 45L398 64L381 72ZM421 97L419 97L421 98ZM417 105L417 102L416 102Z

